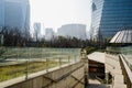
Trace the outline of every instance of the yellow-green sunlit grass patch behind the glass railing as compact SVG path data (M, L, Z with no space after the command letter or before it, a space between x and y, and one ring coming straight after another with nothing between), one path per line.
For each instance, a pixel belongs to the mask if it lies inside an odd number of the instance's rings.
M62 63L62 64L66 64ZM58 66L58 62L30 62L22 63L16 65L9 66L0 66L0 81L9 80L15 77L24 76L26 74L26 69L29 69L29 74L36 73L40 70L44 70L46 68L52 68Z

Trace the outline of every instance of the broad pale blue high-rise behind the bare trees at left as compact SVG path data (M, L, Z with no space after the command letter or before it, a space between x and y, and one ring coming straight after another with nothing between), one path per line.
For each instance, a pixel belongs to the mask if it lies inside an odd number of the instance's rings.
M21 31L29 31L29 0L4 0L4 26L18 28Z

